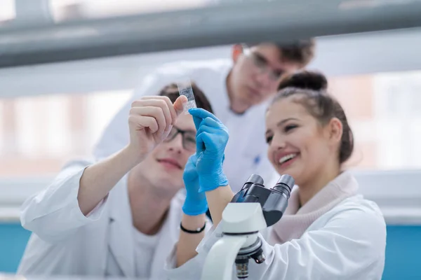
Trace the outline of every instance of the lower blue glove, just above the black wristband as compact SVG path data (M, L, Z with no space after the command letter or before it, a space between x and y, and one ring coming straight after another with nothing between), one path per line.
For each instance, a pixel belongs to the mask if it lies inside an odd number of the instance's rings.
M182 205L182 211L189 216L197 216L208 211L206 195L199 193L199 175L196 171L196 154L193 154L185 166L182 179L186 186L186 200Z

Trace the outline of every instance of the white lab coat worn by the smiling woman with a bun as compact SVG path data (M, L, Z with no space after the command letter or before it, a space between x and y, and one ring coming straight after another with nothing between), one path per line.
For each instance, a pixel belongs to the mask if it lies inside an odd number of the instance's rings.
M166 262L167 278L200 279L206 255L220 233L219 225L209 231L197 248L199 255L181 267L174 268L173 250ZM386 225L380 209L355 195L319 217L300 239L275 246L263 241L266 261L258 265L250 260L248 279L377 280L385 266L385 246Z

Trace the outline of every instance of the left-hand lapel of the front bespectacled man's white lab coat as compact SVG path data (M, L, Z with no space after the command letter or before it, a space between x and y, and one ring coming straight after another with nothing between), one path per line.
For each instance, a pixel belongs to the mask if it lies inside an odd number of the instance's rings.
M126 177L121 180L110 194L109 215L109 249L114 255L124 276L135 277L135 249L133 241L133 219L131 216L130 203Z

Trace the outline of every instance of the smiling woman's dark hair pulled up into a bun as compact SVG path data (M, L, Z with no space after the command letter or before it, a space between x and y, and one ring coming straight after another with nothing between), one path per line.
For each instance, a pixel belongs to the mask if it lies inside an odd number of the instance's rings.
M349 127L347 116L338 100L328 94L328 80L322 73L300 71L290 74L281 80L272 104L279 99L298 95L297 100L322 125L332 118L338 118L342 123L342 139L339 149L339 162L345 162L354 151L354 136Z

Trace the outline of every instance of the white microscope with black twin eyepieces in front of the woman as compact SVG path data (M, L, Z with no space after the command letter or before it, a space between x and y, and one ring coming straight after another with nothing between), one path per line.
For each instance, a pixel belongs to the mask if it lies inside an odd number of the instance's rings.
M234 263L236 277L247 279L250 258L265 262L258 232L281 219L294 184L286 174L271 189L259 175L248 178L222 212L222 238L210 248L201 280L232 280Z

